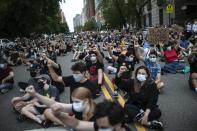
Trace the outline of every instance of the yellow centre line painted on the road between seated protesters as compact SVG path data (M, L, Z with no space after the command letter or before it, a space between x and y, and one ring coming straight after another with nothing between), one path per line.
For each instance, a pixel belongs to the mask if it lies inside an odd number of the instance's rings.
M114 92L114 85L112 84L112 82L110 81L110 79L108 78L108 76L105 73L104 73L104 79L105 79L106 83L109 85L109 88L111 89L111 91ZM125 100L122 98L121 95L118 94L117 100L120 103L120 105L122 107L124 107ZM137 124L137 123L135 123L135 127L137 128L137 131L147 131L144 126Z

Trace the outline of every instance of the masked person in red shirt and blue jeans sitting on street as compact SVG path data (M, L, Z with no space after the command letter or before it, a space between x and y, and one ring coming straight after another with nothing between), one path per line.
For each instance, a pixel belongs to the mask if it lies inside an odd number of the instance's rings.
M162 44L160 44L163 46ZM181 73L185 69L185 65L179 63L179 57L177 54L178 45L175 45L173 42L169 42L165 45L165 50L161 50L162 55L165 57L165 65L164 65L164 72L167 73Z

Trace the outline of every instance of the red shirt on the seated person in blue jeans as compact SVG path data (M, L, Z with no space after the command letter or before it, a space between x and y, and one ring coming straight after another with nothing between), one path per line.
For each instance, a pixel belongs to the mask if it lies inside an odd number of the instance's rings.
M168 63L178 60L176 49L164 51L164 57Z

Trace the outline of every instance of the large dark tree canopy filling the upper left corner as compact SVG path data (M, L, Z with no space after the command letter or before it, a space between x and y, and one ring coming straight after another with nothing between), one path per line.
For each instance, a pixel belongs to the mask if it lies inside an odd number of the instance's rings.
M1 0L0 36L68 32L67 23L60 22L60 2L62 0Z

